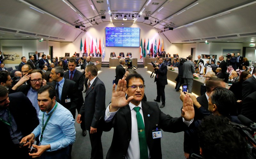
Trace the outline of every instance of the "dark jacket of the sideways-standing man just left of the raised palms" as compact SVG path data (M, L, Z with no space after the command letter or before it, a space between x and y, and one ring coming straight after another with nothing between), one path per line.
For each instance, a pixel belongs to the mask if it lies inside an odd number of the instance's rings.
M84 115L86 130L98 128L99 120L105 112L106 88L104 83L96 77L91 83L89 90L86 91L84 105L79 114Z

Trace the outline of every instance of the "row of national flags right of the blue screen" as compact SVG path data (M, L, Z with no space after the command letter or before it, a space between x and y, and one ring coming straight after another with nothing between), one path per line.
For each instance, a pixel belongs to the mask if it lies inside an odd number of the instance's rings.
M155 56L156 53L160 54L162 51L164 51L164 40L162 40L162 44L160 47L160 39L158 42L158 47L157 47L157 43L155 40L155 43L153 43L153 39L150 41L148 39L148 45L146 48L146 38L144 39L144 47L142 46L142 38L140 40L140 58L142 57L146 57L147 54L152 53L153 57ZM153 47L154 46L154 47Z

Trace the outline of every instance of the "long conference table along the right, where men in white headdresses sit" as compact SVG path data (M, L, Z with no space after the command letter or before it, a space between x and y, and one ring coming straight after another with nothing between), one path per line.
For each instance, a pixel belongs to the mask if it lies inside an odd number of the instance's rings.
M147 67L148 67L148 71L151 71L153 72L154 69L153 69L153 66L151 63L147 63ZM167 66L167 68L170 68L170 66ZM178 76L178 69L174 69L174 71L168 69L167 70L167 79L176 83L175 79L176 77ZM201 85L204 84L204 77L198 77L198 79L193 79L193 87L192 87L192 92L195 93L196 95L200 96L200 88L201 88ZM225 83L226 84L226 88L229 89L229 85L228 83Z

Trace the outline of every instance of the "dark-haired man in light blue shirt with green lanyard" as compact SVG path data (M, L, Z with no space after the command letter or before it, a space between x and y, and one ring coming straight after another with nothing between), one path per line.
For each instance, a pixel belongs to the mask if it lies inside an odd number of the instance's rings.
M37 148L37 152L29 153L32 157L68 159L68 145L76 140L75 120L68 109L55 101L55 94L55 89L50 85L38 90L40 123L31 134L20 141L26 143L26 146L39 136L39 145L32 145Z

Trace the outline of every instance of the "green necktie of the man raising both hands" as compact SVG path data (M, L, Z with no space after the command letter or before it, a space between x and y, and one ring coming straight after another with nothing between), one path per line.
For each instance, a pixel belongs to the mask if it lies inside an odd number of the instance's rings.
M148 158L148 146L146 140L145 126L143 123L142 116L140 114L140 107L133 108L136 111L136 118L138 124L138 136L140 143L140 159Z

